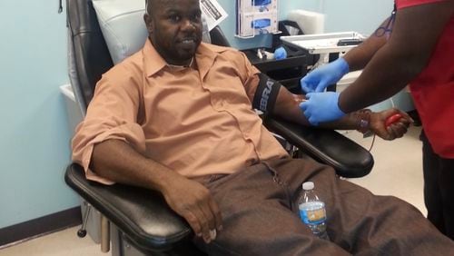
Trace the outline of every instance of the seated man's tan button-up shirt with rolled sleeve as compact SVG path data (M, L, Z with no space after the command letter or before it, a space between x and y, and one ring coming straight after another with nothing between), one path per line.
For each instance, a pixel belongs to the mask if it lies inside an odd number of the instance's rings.
M148 40L103 75L73 139L87 178L95 143L117 139L186 177L286 157L252 109L259 71L244 54L201 44L191 67L165 63Z

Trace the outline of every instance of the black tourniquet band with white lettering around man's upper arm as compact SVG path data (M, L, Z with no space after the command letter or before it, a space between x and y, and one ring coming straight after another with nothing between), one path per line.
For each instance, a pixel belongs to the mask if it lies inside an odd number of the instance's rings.
M252 107L264 113L271 113L281 89L281 84L272 80L266 74L261 73L258 75L260 82L254 94Z

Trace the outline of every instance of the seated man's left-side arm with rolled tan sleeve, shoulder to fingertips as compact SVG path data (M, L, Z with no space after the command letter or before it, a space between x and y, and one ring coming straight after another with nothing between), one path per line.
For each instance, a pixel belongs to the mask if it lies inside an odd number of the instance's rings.
M122 66L117 67L121 69ZM221 214L208 190L163 164L146 157L140 120L140 81L123 70L104 75L96 85L84 122L73 139L73 160L90 180L119 182L161 192L174 212L210 240L210 230L221 226Z

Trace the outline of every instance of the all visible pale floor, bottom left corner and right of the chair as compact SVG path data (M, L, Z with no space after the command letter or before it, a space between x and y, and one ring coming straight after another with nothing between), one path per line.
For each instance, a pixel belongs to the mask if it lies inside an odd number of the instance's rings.
M419 211L426 213L422 198L422 165L420 128L411 127L403 138L386 142L377 138L371 150L375 165L364 178L351 179L368 188L371 192L382 195L395 195L415 205ZM351 139L370 148L371 138L362 139L360 133L346 134ZM78 227L54 232L31 241L0 250L0 256L96 256L108 255L100 251L88 236L79 239L76 236Z

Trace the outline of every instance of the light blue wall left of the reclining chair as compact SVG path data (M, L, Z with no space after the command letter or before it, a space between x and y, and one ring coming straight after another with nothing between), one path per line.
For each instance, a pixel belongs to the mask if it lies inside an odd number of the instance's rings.
M0 228L77 205L64 184L69 132L58 1L0 1Z

